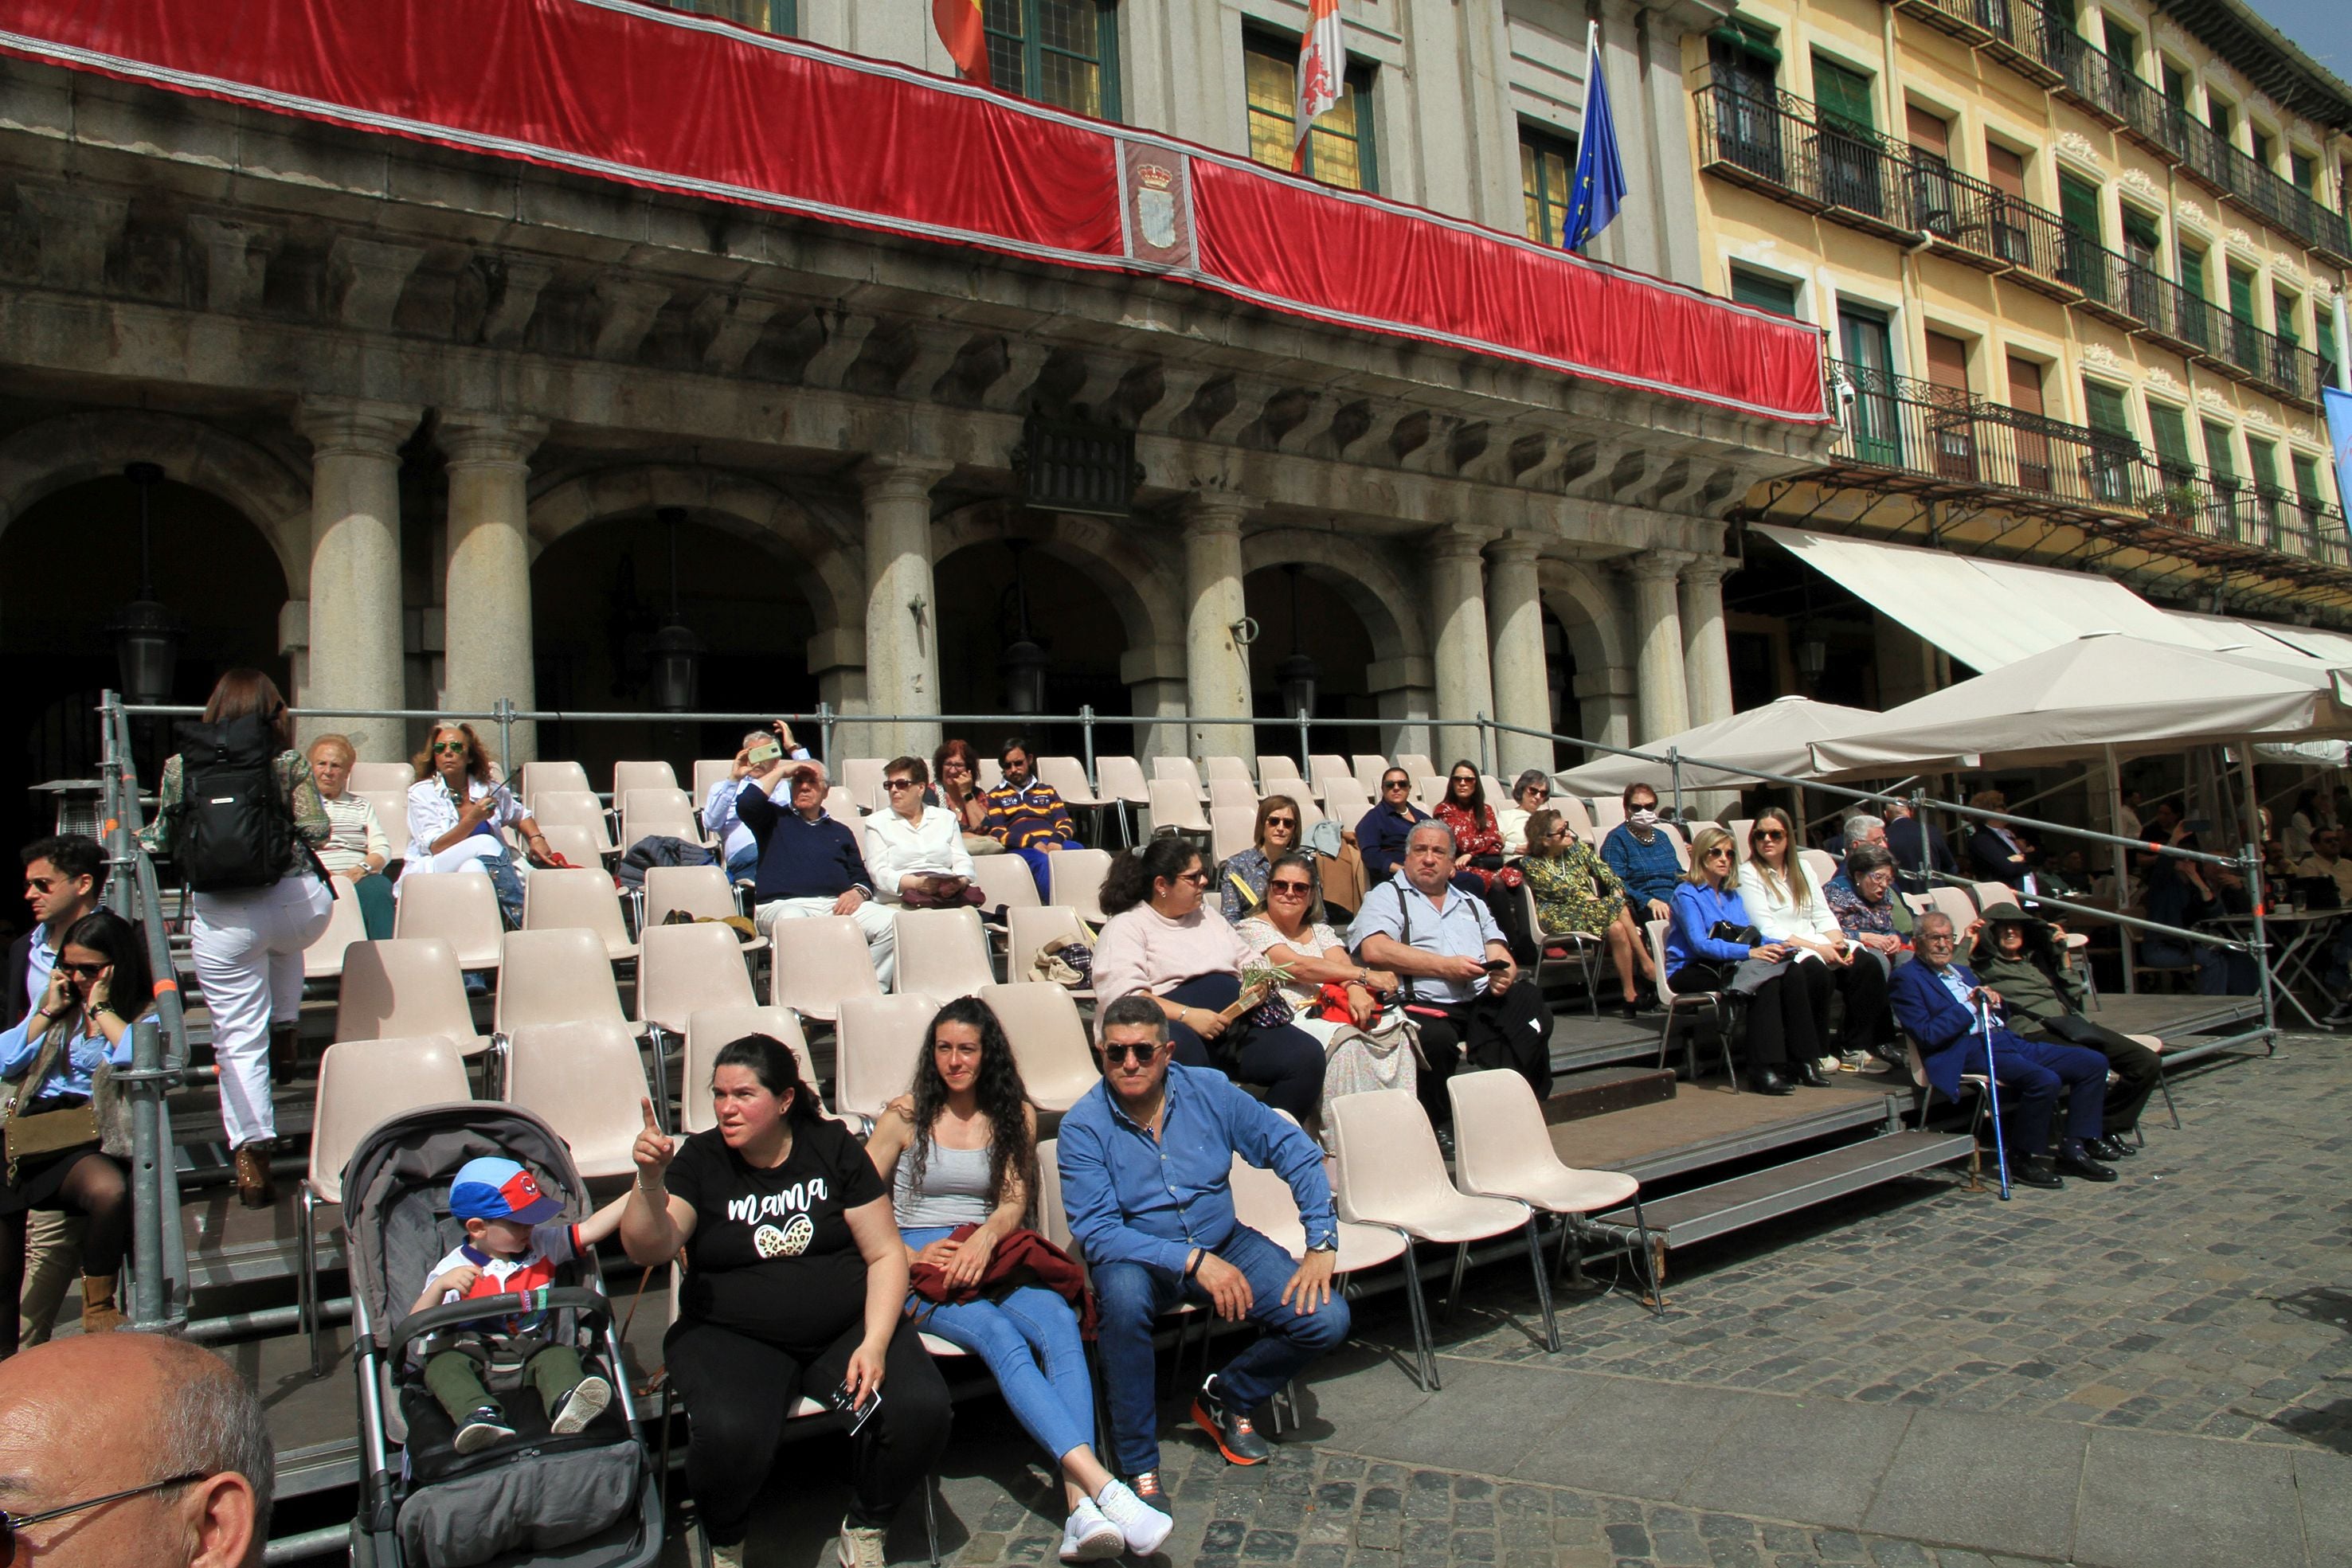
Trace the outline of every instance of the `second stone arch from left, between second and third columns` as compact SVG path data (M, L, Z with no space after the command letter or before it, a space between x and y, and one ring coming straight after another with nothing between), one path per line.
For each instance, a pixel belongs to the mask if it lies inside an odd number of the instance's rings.
M866 562L793 496L717 468L640 463L572 475L532 496L532 559L564 534L604 517L680 505L776 552L795 569L818 630L866 628Z

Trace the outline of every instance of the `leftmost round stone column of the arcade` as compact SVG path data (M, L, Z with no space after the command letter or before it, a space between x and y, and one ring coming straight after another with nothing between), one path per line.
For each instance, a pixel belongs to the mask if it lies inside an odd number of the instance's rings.
M303 397L310 440L310 604L303 703L405 708L400 639L400 442L423 409L360 397ZM407 752L400 719L303 719L301 738L350 736L362 762Z

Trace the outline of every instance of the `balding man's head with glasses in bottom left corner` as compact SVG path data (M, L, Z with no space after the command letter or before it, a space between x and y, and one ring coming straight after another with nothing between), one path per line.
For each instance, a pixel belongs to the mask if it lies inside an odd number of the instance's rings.
M0 1561L259 1568L273 1448L221 1356L158 1333L0 1361Z

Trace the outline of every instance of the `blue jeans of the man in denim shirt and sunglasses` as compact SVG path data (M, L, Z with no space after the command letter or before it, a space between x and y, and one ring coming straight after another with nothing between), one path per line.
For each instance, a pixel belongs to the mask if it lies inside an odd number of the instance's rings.
M1348 1302L1331 1295L1312 1314L1282 1305L1282 1286L1298 1265L1279 1246L1235 1225L1216 1248L1218 1258L1249 1276L1249 1319L1263 1331L1256 1345L1216 1375L1225 1394L1254 1410L1291 1382L1308 1361L1348 1338ZM1200 1281L1143 1262L1094 1265L1098 1307L1096 1352L1103 1359L1103 1396L1110 1403L1110 1448L1120 1474L1160 1469L1160 1403L1152 1396L1152 1319L1178 1300L1209 1305Z

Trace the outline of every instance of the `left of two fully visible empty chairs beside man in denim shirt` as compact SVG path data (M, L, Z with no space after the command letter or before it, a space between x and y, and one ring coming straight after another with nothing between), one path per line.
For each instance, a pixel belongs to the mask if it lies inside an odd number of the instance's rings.
M1461 1295L1470 1244L1524 1229L1526 1262L1536 1274L1536 1300L1543 1307L1543 1345L1557 1352L1559 1326L1552 1321L1552 1279L1543 1267L1543 1244L1536 1239L1536 1211L1519 1199L1470 1197L1456 1190L1446 1180L1446 1161L1437 1150L1428 1112L1402 1088L1336 1095L1327 1112L1336 1152L1331 1194L1338 1199L1341 1218L1404 1232L1404 1302L1421 1354L1421 1387L1437 1389L1439 1382L1414 1241L1456 1248L1454 1288L1446 1293L1451 1305Z

